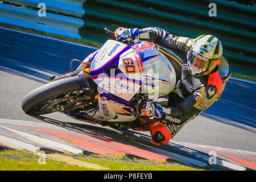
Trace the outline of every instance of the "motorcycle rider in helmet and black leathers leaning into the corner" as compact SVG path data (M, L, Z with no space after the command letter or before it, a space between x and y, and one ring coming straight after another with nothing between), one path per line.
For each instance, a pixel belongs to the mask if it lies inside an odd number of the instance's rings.
M222 44L213 35L200 35L196 39L176 36L158 27L117 28L119 42L145 40L179 53L182 60L180 80L168 95L168 104L160 106L146 102L142 117L132 125L138 131L150 131L152 143L166 144L181 127L195 118L220 98L224 89L218 64L222 57Z

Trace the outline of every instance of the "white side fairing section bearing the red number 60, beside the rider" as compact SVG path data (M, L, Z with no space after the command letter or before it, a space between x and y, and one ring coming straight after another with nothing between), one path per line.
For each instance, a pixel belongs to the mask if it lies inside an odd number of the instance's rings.
M138 56L139 52L143 53L143 60ZM156 49L138 49L120 57L118 68L131 80L141 80L142 91L148 94L150 100L167 96L174 89L175 70Z

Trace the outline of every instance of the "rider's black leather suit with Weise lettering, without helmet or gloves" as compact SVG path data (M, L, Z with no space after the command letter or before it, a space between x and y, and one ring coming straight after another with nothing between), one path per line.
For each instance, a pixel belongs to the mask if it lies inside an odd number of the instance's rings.
M187 52L193 39L175 36L158 27L139 30L139 40L152 42L181 55L182 71L175 92L169 94L168 105L163 106L162 122L172 137L191 119L217 101L222 92L218 66L208 75L195 77L187 68Z

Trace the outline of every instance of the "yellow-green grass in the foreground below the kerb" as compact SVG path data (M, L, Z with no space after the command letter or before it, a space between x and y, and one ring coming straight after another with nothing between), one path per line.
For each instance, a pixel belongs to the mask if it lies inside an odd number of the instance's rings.
M68 156L68 155L66 155ZM130 159L125 156L70 156L75 159L99 164L107 167L110 171L191 171L202 170L181 164L166 162L155 162L151 160ZM20 150L0 151L0 171L72 171L72 170L94 170L92 168L79 167L57 160L46 159L46 164L38 164L39 156L31 152Z

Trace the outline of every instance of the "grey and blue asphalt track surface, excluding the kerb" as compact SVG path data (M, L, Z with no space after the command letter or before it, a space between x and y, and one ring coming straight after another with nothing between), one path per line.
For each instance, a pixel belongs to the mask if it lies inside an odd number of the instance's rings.
M50 76L69 72L69 61L83 60L92 51L90 47L0 28L0 118L82 123L61 113L32 117L23 113L20 104ZM74 68L77 65L74 63ZM230 79L220 100L187 123L173 140L255 152L255 91L254 83Z

